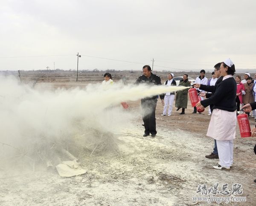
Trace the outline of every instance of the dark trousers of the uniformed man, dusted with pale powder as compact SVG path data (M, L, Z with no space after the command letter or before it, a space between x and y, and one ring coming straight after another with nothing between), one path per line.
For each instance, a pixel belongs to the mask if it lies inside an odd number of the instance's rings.
M157 134L156 130L156 107L157 99L142 99L142 119L145 127L145 134L151 133L152 135Z

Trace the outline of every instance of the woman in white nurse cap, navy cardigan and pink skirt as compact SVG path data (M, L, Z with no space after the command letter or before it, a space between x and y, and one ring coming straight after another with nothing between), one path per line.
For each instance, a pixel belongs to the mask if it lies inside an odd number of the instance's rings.
M233 78L235 65L226 59L220 67L223 79L215 93L196 104L204 109L213 104L207 136L216 140L219 162L214 169L230 170L233 166L233 139L236 138L236 81Z

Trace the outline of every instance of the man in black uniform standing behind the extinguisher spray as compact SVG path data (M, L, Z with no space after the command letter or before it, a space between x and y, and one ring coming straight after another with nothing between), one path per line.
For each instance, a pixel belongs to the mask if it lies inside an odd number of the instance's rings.
M143 75L139 76L135 84L148 84L148 85L161 85L161 79L159 76L151 73L151 68L148 65L143 67ZM164 105L164 94L160 94L162 105ZM141 99L142 119L144 121L145 133L143 137L148 136L151 133L152 137L157 134L156 130L156 107L157 96Z

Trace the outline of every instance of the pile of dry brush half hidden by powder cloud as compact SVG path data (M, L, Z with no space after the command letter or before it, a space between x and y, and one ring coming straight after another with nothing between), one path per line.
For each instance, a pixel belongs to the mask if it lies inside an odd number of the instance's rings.
M83 130L85 133L62 137L40 137L30 139L14 147L0 142L4 150L0 152L2 169L30 168L37 166L53 168L62 161L84 161L95 155L106 155L109 152L119 155L116 138L113 133L102 132L93 128ZM8 150L9 152L4 152ZM12 155L10 154L12 150Z

